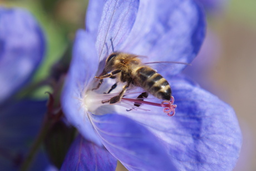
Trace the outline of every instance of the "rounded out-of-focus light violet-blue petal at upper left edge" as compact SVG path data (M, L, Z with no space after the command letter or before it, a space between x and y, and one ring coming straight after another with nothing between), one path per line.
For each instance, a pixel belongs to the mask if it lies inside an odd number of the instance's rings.
M0 7L0 103L21 88L42 61L45 38L22 9Z

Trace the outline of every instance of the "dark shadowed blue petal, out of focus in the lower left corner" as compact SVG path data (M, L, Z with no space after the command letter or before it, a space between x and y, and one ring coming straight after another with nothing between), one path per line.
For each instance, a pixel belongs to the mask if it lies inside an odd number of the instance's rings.
M42 124L46 101L24 100L0 108L0 168L18 170ZM50 163L40 151L31 170L44 170Z

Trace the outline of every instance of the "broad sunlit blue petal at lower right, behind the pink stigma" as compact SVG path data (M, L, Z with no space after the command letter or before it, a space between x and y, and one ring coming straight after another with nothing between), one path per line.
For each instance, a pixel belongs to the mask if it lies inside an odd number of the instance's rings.
M234 110L184 77L170 80L174 104L178 106L174 117L157 107L144 106L151 111L119 113L159 138L153 142L163 144L180 170L232 170L242 144Z

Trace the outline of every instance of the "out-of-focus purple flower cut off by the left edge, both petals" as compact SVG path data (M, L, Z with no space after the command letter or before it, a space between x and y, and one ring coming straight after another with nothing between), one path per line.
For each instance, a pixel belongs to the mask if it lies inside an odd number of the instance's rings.
M0 7L0 168L18 170L42 124L46 101L7 100L32 77L45 53L35 18L23 9ZM38 153L31 170L49 165Z

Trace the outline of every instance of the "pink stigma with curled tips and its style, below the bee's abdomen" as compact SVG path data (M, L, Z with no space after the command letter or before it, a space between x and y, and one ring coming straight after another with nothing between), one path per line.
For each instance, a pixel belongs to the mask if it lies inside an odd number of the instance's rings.
M146 102L144 100L138 100L138 99L130 99L130 98L122 98L122 100L127 100L129 102L139 103L139 104L149 104L154 105L157 107L164 107L163 111L164 113L167 113L169 117L173 117L175 114L175 108L177 107L174 103L174 97L171 96L171 100L164 100L162 103L153 103L153 102Z

